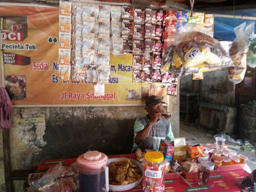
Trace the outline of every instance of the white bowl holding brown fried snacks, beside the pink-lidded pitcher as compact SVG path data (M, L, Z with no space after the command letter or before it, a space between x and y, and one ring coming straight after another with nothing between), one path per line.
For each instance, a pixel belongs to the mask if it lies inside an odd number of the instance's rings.
M111 162L118 161L118 160L123 160L123 159L129 159L132 164L137 164L139 169L140 169L140 172L143 173L143 166L142 166L142 164L140 162L134 160L134 159L131 159L131 158L109 158L109 159L107 159L106 165L108 166ZM138 179L137 181L132 182L130 184L123 184L123 185L109 184L109 190L112 190L112 191L124 191L124 190L132 189L132 188L136 187L141 182L142 176L140 177L140 179Z

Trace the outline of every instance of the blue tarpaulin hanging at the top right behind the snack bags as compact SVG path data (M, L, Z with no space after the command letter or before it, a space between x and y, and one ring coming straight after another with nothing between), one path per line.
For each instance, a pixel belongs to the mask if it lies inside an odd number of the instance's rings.
M212 13L219 14L233 14L232 11L214 11ZM240 9L235 10L235 15L241 16L256 16L256 8L254 9ZM235 38L234 27L239 24L246 22L250 23L253 20L247 19L237 19L237 18L222 18L222 17L214 17L214 37L220 38L221 40L232 41ZM254 21L254 32L256 33L256 20Z

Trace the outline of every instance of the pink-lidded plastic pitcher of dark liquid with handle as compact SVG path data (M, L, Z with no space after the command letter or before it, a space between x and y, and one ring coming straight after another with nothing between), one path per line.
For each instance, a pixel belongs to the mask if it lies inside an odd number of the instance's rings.
M76 162L80 192L109 191L107 156L96 150L81 154Z

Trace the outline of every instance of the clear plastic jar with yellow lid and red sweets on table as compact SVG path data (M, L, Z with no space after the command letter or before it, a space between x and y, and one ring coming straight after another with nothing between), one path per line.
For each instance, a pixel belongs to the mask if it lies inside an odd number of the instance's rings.
M144 155L144 192L164 192L164 159L159 151L149 151Z

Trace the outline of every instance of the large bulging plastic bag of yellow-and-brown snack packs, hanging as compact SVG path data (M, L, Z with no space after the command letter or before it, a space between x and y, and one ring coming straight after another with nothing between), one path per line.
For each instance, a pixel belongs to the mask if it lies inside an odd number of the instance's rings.
M200 31L198 31L200 30ZM161 70L186 75L213 68L228 67L232 61L218 40L204 33L204 29L188 24L173 34L164 52Z

